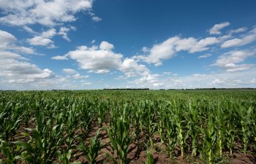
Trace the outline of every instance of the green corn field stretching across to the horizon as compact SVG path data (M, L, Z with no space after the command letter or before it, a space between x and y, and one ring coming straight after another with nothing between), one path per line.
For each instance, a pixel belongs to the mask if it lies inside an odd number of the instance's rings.
M256 163L256 92L2 91L0 144L0 163Z

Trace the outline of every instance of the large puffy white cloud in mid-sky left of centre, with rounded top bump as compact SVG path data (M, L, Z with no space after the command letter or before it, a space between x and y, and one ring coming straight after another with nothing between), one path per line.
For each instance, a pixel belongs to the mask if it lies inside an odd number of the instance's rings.
M71 58L78 62L80 69L89 73L106 74L110 70L123 72L127 77L145 76L150 74L149 69L139 64L134 58L125 58L121 53L113 52L114 46L109 42L101 42L99 47L80 46L76 50L69 51L66 55L55 56L56 60Z

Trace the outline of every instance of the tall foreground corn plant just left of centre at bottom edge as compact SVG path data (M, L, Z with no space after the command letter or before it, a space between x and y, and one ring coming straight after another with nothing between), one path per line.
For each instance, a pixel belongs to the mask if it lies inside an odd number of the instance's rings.
M127 155L129 144L132 142L132 137L129 136L129 124L123 117L118 118L116 125L113 125L112 128L108 128L108 136L110 138L110 146L116 151L119 163L129 163ZM106 155L107 157L110 157L110 155ZM110 158L113 159L113 156ZM114 163L117 162L115 159L113 160Z

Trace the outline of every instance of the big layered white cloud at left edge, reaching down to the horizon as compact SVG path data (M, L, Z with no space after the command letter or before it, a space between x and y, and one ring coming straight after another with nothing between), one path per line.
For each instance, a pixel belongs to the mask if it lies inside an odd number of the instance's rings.
M39 85L49 79L55 78L50 69L39 69L38 66L29 63L21 53L33 53L27 47L19 47L15 44L16 38L6 31L0 31L0 85L1 89L23 85ZM8 84L8 85L7 85ZM22 88L19 88L22 89Z

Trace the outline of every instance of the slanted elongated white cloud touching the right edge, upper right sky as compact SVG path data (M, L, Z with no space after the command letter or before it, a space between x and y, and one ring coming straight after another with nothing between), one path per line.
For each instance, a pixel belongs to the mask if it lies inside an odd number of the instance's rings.
M241 37L240 39L235 38L235 39L230 39L224 42L221 47L222 48L227 48L227 47L238 47L242 46L245 44L252 43L256 40L256 27L252 29L252 31L249 31L249 34L246 36Z

